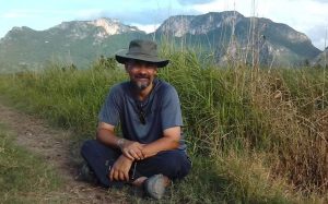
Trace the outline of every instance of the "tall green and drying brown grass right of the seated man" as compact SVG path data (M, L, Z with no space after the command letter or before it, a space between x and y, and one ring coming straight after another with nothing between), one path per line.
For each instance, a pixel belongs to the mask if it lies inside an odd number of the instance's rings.
M272 178L302 193L327 193L328 98L321 89L328 76L321 70L260 70L253 77L245 68L202 69L195 56L179 57L163 75L180 93L196 152L266 153Z

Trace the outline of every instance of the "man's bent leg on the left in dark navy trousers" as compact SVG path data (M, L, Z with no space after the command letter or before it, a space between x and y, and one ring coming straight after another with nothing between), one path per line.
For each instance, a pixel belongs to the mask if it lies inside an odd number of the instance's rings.
M96 140L85 141L81 147L81 155L89 164L95 176L104 187L122 187L122 182L110 181L108 173L120 152L113 149Z

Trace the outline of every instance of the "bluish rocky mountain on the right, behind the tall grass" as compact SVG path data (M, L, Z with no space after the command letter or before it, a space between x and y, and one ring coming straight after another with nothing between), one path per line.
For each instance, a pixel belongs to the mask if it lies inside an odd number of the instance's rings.
M177 37L186 45L201 45L215 53L218 62L249 62L255 58L267 65L293 65L320 53L305 34L288 25L245 17L235 11L172 16L156 34Z

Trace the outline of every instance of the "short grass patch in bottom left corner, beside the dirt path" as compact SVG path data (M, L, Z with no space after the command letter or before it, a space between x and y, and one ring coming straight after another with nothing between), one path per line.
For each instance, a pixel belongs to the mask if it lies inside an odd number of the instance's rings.
M54 169L37 156L13 144L13 135L0 125L0 203L55 201L60 187Z

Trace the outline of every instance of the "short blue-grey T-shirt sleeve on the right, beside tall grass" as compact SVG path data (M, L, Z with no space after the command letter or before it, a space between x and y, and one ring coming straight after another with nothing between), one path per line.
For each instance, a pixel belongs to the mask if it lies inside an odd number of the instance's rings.
M173 86L168 86L163 93L161 120L163 130L183 125L180 101Z

